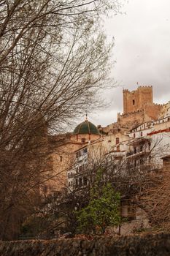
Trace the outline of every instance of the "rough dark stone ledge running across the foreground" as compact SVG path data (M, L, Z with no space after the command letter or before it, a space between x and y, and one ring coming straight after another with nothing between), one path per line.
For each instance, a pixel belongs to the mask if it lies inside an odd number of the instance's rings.
M0 242L1 256L169 256L170 234Z

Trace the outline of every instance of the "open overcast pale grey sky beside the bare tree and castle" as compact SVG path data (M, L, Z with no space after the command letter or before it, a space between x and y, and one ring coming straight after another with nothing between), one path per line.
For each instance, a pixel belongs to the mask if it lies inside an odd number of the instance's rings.
M89 115L94 124L106 126L123 111L122 89L152 85L156 103L170 100L170 0L129 0L124 15L108 18L105 29L115 37L112 68L117 88L104 93L109 108Z

